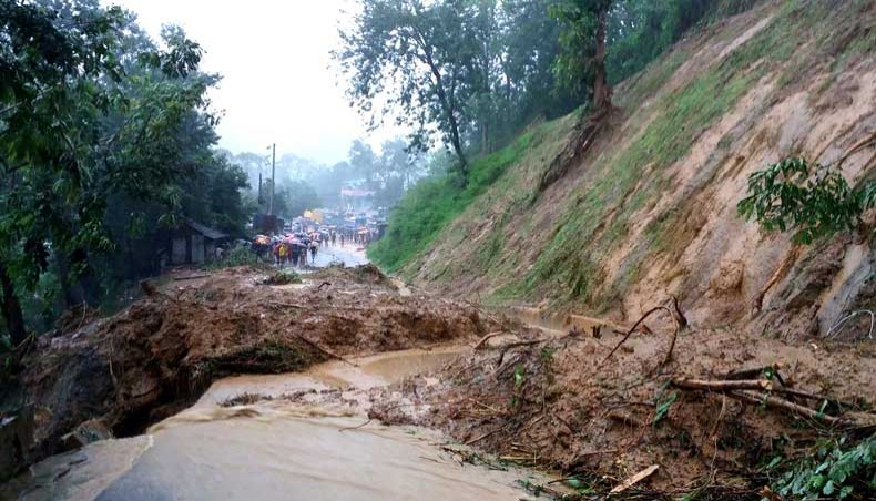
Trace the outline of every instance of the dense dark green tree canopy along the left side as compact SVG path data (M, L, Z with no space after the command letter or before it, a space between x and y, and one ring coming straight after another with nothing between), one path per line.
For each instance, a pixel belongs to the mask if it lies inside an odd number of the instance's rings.
M211 150L217 78L181 30L162 39L96 0L0 0L0 306L13 341L26 335L19 298L42 274L68 305L99 300L124 273L98 262L128 266L126 239L210 197L222 206L208 223L241 224L245 180Z

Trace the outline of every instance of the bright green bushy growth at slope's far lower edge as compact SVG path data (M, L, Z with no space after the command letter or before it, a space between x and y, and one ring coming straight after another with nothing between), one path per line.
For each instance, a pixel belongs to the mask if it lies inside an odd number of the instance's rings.
M532 146L532 132L523 134L511 145L475 159L465 187L452 174L414 186L390 213L386 236L368 248L368 256L389 270L404 266L515 164Z

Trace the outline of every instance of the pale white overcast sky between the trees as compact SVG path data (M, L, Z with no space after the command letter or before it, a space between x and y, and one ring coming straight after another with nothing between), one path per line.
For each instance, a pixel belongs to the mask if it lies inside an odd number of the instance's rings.
M136 12L157 39L161 25L183 27L206 54L202 68L223 75L211 93L225 114L220 146L234 153L294 153L332 164L357 137L374 146L394 132L367 135L347 105L328 52L337 48L342 11L355 0L102 0ZM397 133L397 131L395 131Z

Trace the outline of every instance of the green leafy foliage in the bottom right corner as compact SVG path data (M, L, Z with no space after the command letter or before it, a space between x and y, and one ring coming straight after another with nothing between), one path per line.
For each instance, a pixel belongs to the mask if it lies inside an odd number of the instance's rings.
M781 462L774 461L773 467ZM785 499L873 499L876 493L876 439L855 447L845 438L828 442L812 456L801 458L775 482L774 491Z

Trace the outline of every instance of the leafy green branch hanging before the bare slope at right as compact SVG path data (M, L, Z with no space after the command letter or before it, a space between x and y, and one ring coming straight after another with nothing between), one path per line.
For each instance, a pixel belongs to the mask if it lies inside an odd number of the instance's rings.
M874 186L870 182L852 190L839 172L791 157L748 176L747 196L737 207L764 229L794 229L795 242L811 244L854 231L874 205Z

